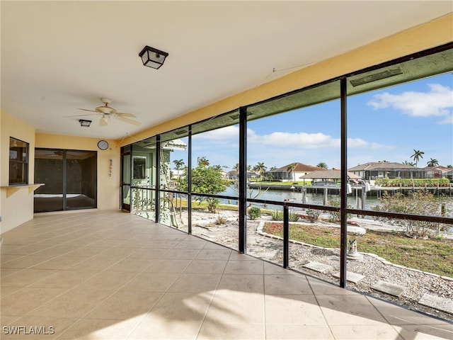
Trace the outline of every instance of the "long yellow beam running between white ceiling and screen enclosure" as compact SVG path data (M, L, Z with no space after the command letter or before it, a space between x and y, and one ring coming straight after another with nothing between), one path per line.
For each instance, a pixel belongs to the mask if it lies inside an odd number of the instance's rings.
M343 55L332 57L318 64L306 67L285 77L275 79L254 89L236 94L210 106L186 113L176 119L156 125L137 135L125 138L120 143L128 145L137 140L167 132L182 126L211 118L220 113L232 111L258 101L263 101L289 91L302 89L306 86L318 84L321 81L333 79L365 67L374 66L394 60L398 57L411 55L428 48L444 45L453 40L453 13L430 21L423 25L403 30L396 35L372 42L369 45L352 50Z

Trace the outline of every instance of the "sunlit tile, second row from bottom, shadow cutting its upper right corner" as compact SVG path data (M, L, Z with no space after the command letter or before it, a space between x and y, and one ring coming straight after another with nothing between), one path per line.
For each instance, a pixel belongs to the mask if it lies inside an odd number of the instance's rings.
M327 324L313 295L265 295L266 324Z

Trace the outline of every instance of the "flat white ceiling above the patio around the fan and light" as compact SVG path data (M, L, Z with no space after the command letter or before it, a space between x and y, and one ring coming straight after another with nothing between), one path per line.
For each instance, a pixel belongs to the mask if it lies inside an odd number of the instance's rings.
M1 110L119 139L452 12L451 1L1 1ZM150 45L169 53L144 67ZM275 72L273 72L275 69ZM63 118L112 100L119 120Z

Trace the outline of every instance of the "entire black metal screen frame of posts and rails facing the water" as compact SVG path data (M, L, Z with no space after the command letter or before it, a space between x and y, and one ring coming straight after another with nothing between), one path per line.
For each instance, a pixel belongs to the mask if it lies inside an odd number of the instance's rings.
M284 214L284 236L283 236L283 263L282 266L284 268L289 267L289 207L294 208L306 208L306 209L314 209L314 210L327 210L327 211L335 211L340 212L340 287L346 287L346 273L347 273L347 251L348 251L348 234L347 234L347 215L348 214L357 214L357 215L371 215L371 216L378 216L378 217L392 217L396 219L407 219L407 220L423 220L429 222L438 222L438 223L453 223L453 218L451 217L436 217L436 216L419 216L419 215L408 215L408 214L401 214L401 213L393 213L393 212L377 212L371 210L359 210L359 209L350 209L347 207L347 80L348 77L355 76L357 74L362 74L365 72L369 72L372 70L381 69L383 67L388 67L393 64L398 64L401 62L406 62L409 60L413 60L419 57L425 57L427 55L431 55L436 52L442 52L444 50L449 50L453 48L453 42L449 42L445 45L434 47L429 50L424 50L421 52L414 53L413 55L407 55L404 57L399 57L395 60L391 60L389 62L384 62L382 64L377 64L372 67L367 67L365 69L358 70L356 72L350 72L349 74L345 74L340 77L336 77L333 79L329 79L326 81L322 81L318 84L313 84L311 86L306 86L303 89L298 89L295 91L291 91L287 94L282 94L280 96L275 96L273 98L265 99L264 101L260 101L258 103L253 103L250 106L256 106L261 103L267 103L269 101L274 101L278 98L283 98L285 96L290 96L292 94L297 94L301 91L306 91L308 89L314 89L318 86L329 84L333 81L340 81L340 129L341 129L341 146L340 146L340 154L341 154L341 186L340 186L340 197L341 197L341 204L340 207L332 207L326 205L310 205L310 204L301 204L301 203L293 203L293 202L280 202L280 201L271 201L271 200L258 200L258 199L251 199L247 198L246 196L246 159L247 159L247 108L248 106L244 106L239 108L239 197L234 196L219 196L219 195L209 195L209 194L200 194L200 193L192 193L192 186L189 181L188 183L188 192L180 192L180 191L171 191L171 190L164 190L160 188L156 188L156 199L159 197L159 192L171 192L171 193L183 193L188 195L188 211L189 211L189 226L188 226L188 233L192 233L192 220L191 220L191 200L192 196L204 196L204 197L212 197L212 198L226 198L231 200L239 200L239 241L238 241L238 251L239 253L246 253L246 205L247 203L262 203L262 204L272 204L272 205L280 205L283 209ZM227 114L227 113L224 113ZM212 118L211 118L212 119ZM192 169L192 125L188 125L189 128L189 135L188 135L188 173L189 178L191 175ZM160 149L160 135L157 136L158 138L158 147ZM159 152L157 152L159 155ZM159 175L159 163L160 159L157 159L157 174ZM159 180L157 183L160 183ZM132 188L132 187L131 187ZM159 205L156 204L156 209ZM158 213L156 212L156 216Z

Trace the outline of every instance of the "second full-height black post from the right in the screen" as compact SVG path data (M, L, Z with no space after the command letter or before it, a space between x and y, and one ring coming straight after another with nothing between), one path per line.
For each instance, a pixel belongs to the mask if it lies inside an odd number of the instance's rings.
M239 108L239 253L245 254L247 199L247 108Z

